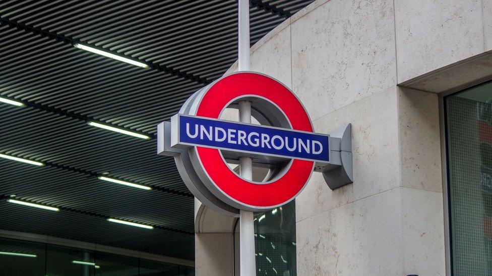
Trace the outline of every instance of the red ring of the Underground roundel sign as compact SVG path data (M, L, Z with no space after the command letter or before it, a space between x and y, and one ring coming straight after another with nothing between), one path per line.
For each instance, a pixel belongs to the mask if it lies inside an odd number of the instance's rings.
M245 95L270 100L284 112L294 130L313 132L309 115L292 91L273 78L253 72L231 74L214 83L203 96L197 116L218 119L227 104ZM313 161L294 159L283 176L260 185L229 169L218 149L197 146L197 153L203 168L223 194L241 205L261 209L283 205L297 196L314 168Z

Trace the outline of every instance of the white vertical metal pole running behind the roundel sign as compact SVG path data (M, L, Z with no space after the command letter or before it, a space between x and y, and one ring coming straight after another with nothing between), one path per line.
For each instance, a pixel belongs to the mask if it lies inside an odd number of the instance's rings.
M239 0L239 60L238 70L250 70L250 2ZM251 123L251 102L239 102L239 121ZM249 157L239 158L239 174L253 179L253 164ZM256 275L255 227L253 212L239 212L239 270L241 276Z

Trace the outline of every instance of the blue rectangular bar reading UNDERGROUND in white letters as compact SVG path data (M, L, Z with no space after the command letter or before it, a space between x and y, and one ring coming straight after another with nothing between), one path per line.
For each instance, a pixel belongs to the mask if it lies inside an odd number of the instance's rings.
M330 161L329 136L179 115L178 143L313 161Z

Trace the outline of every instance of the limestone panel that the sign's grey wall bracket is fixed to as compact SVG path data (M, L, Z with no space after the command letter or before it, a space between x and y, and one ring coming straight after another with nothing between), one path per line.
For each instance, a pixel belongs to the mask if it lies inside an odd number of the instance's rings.
M357 101L315 120L315 130L352 124L354 182L334 191L320 173L296 199L296 219L304 220L335 207L400 186L397 87Z

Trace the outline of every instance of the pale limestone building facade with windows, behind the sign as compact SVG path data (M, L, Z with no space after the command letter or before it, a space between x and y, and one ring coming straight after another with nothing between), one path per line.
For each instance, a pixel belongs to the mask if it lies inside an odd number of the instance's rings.
M295 206L257 216L258 275L492 273L491 1L318 0L251 69L316 132L352 124L354 173L336 190L313 174ZM236 220L195 213L197 275L237 275Z

